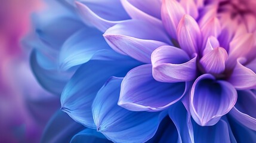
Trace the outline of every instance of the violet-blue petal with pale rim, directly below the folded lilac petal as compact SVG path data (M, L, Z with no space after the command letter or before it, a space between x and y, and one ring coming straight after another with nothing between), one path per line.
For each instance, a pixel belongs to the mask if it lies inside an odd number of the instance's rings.
M145 64L127 73L118 104L132 111L159 111L174 104L186 92L186 83L162 83L153 79L152 66Z

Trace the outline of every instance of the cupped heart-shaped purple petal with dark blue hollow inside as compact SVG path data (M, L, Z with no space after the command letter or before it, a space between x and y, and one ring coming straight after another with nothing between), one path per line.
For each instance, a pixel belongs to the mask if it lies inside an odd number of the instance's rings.
M236 89L230 83L215 80L211 74L203 74L192 86L190 112L199 125L215 125L233 108L236 99Z

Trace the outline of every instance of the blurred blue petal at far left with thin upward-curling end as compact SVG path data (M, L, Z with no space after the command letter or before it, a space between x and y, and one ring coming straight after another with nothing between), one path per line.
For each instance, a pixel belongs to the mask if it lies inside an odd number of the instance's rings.
M53 92L54 94L60 95L73 73L63 73L57 70L47 70L42 68L38 64L36 54L37 51L33 51L30 57L30 65L36 79L45 89Z

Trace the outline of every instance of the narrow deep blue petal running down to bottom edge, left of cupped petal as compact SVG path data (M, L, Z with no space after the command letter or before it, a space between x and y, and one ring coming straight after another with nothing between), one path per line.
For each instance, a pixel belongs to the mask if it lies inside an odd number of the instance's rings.
M181 102L177 102L169 109L169 117L178 130L179 142L194 142L192 122L190 114Z

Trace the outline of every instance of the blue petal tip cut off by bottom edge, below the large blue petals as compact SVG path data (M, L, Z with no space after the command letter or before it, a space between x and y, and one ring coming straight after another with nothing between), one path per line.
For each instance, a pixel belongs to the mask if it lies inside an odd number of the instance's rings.
M79 133L76 133L75 136L70 141L71 143L79 143L79 142L86 142L86 143L96 143L96 142L102 142L102 143L110 143L109 141L102 133L97 132L95 129L84 129Z

